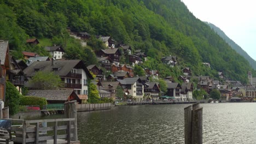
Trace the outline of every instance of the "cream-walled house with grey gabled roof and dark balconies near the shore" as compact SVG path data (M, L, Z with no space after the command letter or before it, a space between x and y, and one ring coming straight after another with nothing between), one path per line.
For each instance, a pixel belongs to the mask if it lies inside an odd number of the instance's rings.
M144 85L141 79L138 77L130 77L124 80L118 80L123 89L127 89L135 101L143 101L144 100Z

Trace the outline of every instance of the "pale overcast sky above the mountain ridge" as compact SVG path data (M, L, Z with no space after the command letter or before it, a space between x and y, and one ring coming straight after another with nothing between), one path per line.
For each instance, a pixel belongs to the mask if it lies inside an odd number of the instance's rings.
M256 1L181 0L201 21L213 23L256 60Z

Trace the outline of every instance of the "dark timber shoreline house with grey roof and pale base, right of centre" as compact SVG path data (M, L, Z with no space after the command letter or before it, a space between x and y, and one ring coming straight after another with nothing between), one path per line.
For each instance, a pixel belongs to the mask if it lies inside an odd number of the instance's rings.
M181 85L177 82L167 82L167 95L174 97L176 101L182 101L181 98Z

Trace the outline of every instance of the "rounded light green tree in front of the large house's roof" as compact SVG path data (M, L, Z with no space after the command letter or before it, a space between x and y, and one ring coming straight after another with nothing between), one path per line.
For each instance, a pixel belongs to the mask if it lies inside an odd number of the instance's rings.
M63 87L59 75L53 72L38 71L31 79L30 84L39 89L57 89Z

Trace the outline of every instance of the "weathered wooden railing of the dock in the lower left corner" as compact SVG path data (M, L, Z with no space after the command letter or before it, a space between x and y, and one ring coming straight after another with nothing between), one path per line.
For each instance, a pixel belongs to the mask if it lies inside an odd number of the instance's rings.
M63 119L41 119L24 121L23 119L12 119L12 123L22 124L22 127L11 127L11 131L15 133L16 137L12 137L14 142L28 143L34 142L39 143L47 140L53 140L54 144L57 143L57 139L64 139L67 143L71 143L71 137L74 136L72 129L74 129L73 122L75 118L63 118ZM63 125L63 122L66 122ZM46 125L52 125L53 127L40 127L40 123L46 123ZM20 126L20 125L19 125ZM66 134L58 134L60 131ZM53 135L48 135L48 131L53 131Z

